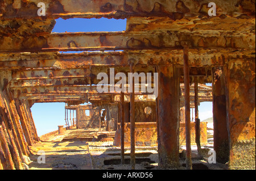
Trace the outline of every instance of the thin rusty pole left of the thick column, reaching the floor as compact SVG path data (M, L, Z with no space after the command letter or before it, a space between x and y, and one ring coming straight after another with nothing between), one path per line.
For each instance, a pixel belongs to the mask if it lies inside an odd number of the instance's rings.
M134 74L135 60L129 60L130 74ZM130 130L131 130L131 169L135 169L135 92L134 92L134 77L130 76Z

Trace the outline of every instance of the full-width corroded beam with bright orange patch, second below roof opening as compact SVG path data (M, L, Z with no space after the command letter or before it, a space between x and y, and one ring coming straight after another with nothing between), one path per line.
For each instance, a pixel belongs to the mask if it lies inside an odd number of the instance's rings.
M129 66L129 60L138 60L139 65L183 66L182 50L140 50L129 52L84 52L84 53L10 53L0 54L0 69L88 69L93 66ZM191 50L189 65L222 66L234 58L255 58L255 50Z

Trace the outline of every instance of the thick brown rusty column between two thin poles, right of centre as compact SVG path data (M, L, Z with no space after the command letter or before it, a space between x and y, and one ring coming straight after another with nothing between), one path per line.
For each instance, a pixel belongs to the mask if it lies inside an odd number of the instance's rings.
M177 169L179 163L180 74L174 66L158 67L158 155L159 166Z

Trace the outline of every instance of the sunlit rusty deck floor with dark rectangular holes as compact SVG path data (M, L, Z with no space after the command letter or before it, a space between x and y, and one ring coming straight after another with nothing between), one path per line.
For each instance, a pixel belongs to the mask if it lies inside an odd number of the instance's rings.
M106 132L101 132L106 133ZM28 165L31 170L127 170L130 169L130 147L125 147L125 165L120 165L121 148L113 146L113 141L76 141L77 138L97 137L96 130L91 132L84 129L71 129L62 135L53 135L47 141L30 146L32 155ZM110 137L113 133L110 132ZM69 139L67 139L69 138ZM72 138L74 140L72 140ZM64 141L63 141L64 140ZM69 140L69 141L65 141ZM211 145L204 146L205 149ZM180 147L180 169L185 169L184 146ZM44 151L44 152L42 152ZM45 163L38 159L45 154ZM139 170L160 169L158 167L157 146L136 146L136 168ZM192 146L192 161L195 169L226 169L224 164L209 164L205 159L197 157L197 148Z

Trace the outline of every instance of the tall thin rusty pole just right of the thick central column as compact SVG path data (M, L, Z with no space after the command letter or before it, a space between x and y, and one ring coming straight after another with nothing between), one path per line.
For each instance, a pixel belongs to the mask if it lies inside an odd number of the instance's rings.
M186 129L186 167L192 169L191 160L191 120L190 120L190 89L189 89L189 64L188 64L188 42L183 42L184 53L184 93L185 93L185 129Z

